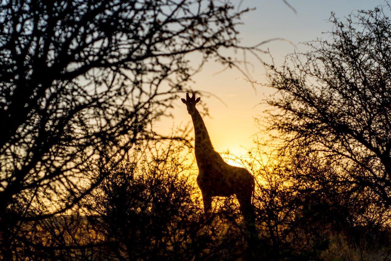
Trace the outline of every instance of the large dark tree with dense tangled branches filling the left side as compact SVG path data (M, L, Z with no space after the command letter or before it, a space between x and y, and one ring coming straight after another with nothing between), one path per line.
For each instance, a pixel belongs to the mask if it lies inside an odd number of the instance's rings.
M72 209L197 70L186 54L237 46L240 15L215 0L5 0L0 4L0 242ZM113 152L114 151L114 152ZM105 169L105 168L100 168ZM106 168L107 169L107 168ZM84 184L80 184L84 180ZM86 188L86 184L88 184Z

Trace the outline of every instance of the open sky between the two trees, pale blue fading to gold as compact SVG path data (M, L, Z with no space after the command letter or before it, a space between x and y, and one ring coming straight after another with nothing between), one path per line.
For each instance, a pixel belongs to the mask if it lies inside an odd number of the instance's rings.
M240 0L231 2L238 5ZM244 24L238 27L241 45L251 46L271 38L286 38L297 45L299 51L303 51L305 46L300 43L316 38L327 38L327 35L322 32L332 29L332 24L327 22L331 12L343 19L353 10L373 9L386 3L384 0L287 0L287 2L296 9L297 14L282 0L244 0L241 9L245 7L256 9L246 13L242 18ZM287 54L294 52L294 47L284 41L273 41L263 48L269 49L277 66L282 64ZM236 57L242 59L242 52ZM266 83L264 66L255 57L249 54L246 57L253 65L248 67L251 78ZM267 55L261 57L269 61ZM196 57L194 59L196 60ZM210 117L204 117L204 122L216 151L221 153L228 150L240 157L246 154L248 148L254 146L254 135L262 132L262 129L255 124L254 118L261 117L267 121L265 114L262 113L267 107L260 103L268 95L273 94L273 90L262 85L256 85L254 90L242 79L243 75L237 69L226 70L215 75L222 69L221 65L207 63L193 78L195 82L191 86L200 92L210 92L225 103L213 95L202 95L201 99L207 104L210 113ZM185 104L178 99L174 105L172 112L174 118L160 121L157 124L158 130L166 132L173 127L192 123ZM265 134L262 134L262 137L266 137Z

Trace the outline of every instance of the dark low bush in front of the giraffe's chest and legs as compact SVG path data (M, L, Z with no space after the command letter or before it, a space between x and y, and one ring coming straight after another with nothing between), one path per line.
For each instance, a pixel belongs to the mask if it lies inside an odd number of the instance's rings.
M142 148L86 198L110 246L103 256L183 260L244 255L237 205L227 199L204 219L187 153L175 142Z

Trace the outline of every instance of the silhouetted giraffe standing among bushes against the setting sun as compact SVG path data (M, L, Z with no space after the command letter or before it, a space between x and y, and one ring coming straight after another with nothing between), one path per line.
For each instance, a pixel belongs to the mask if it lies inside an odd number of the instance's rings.
M220 154L214 150L201 114L195 108L195 104L200 99L200 97L195 99L194 93L190 98L187 93L186 99L181 100L186 104L194 125L195 159L199 170L197 184L202 193L204 214L206 217L210 215L213 196L229 197L235 195L239 201L242 215L247 221L253 223L251 197L255 187L254 177L247 169L231 166L224 162Z

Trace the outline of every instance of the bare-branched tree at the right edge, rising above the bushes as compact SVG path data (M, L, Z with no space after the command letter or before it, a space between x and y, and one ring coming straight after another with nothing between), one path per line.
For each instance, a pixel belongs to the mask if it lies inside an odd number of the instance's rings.
M316 153L338 169L330 182L391 203L390 5L358 11L326 40L270 66L271 130L293 153ZM369 191L369 192L368 192Z

